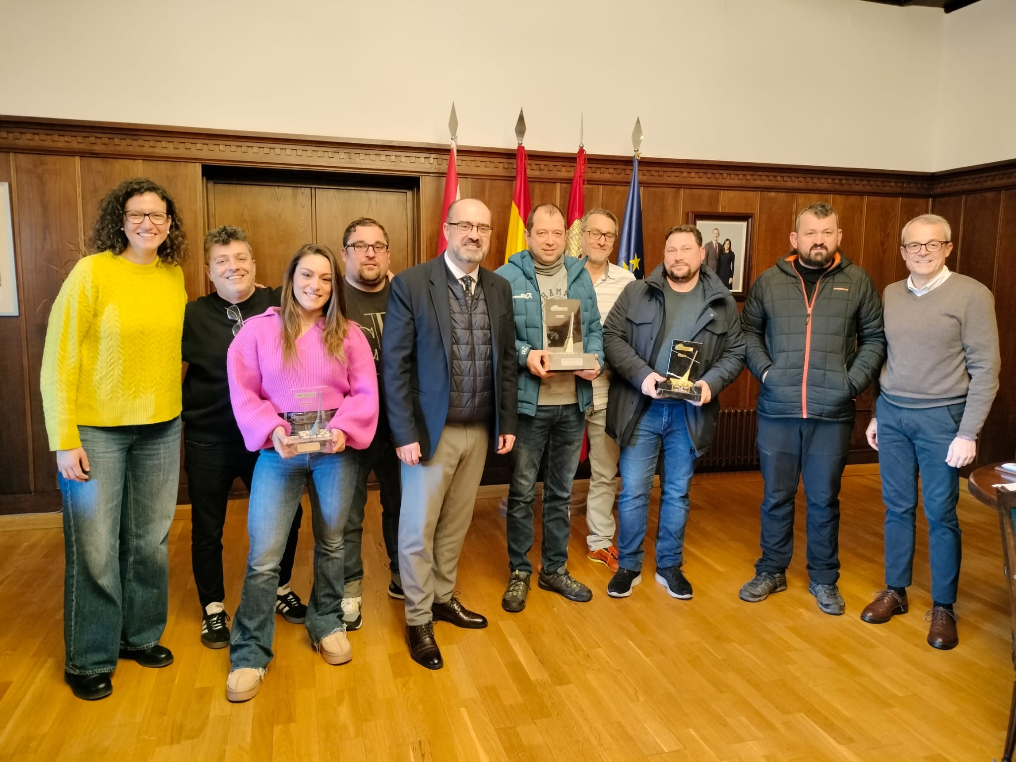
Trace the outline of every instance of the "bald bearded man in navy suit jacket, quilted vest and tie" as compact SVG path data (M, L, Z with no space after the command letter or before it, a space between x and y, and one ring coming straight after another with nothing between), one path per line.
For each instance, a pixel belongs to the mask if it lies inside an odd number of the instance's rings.
M482 628L454 595L490 440L515 443L518 374L508 281L480 263L491 211L463 198L448 208L448 248L391 282L381 347L385 402L401 463L399 571L406 640L418 663L444 661L434 621Z

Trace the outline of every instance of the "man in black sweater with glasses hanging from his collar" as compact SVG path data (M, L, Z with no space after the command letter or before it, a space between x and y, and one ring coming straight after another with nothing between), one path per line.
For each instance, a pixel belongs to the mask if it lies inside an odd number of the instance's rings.
M255 264L246 234L223 226L204 237L204 262L215 291L184 312L184 470L191 501L191 563L201 601L201 642L230 644L223 607L223 525L230 488L238 477L250 490L258 452L248 452L233 417L226 354L244 320L279 303L278 289L255 285ZM302 623L307 607L290 587L302 510L298 507L278 574L275 610Z

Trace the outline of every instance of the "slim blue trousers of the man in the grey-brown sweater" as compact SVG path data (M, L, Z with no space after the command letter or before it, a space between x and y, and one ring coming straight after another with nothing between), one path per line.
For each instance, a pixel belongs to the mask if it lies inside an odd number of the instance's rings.
M955 604L959 586L959 469L946 463L946 454L959 431L963 407L961 402L913 409L880 397L877 408L879 470L886 505L886 585L910 584L919 471L928 517L932 599L938 604Z

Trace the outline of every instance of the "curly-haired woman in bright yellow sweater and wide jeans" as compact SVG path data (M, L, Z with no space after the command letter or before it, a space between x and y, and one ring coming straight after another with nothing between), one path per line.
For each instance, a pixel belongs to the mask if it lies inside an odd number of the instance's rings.
M143 178L100 203L89 242L53 303L42 392L63 492L64 678L113 692L117 659L166 666L158 645L167 539L180 471L180 338L186 239L173 199Z

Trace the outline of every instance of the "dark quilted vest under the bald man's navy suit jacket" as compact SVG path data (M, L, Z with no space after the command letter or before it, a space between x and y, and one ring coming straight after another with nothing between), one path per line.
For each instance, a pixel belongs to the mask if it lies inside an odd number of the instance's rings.
M451 396L449 424L486 424L494 415L494 359L491 317L487 299L473 274L472 297L465 303L462 283L450 271L448 306L451 308Z

